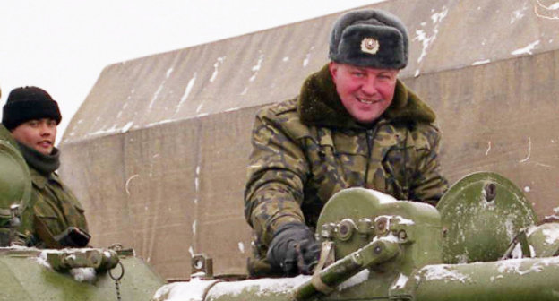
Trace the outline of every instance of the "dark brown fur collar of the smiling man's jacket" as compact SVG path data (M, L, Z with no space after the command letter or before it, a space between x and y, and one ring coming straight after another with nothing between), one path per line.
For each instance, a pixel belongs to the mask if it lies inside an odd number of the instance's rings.
M359 125L341 103L328 64L319 72L311 74L303 83L297 112L305 125L338 128L365 127ZM394 99L379 119L406 123L433 123L435 115L430 107L427 107L417 95L398 80Z

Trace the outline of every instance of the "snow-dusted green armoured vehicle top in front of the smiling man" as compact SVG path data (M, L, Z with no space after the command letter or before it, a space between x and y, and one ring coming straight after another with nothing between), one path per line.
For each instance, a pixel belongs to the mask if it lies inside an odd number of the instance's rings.
M557 300L559 223L536 224L520 189L495 173L462 178L438 208L351 188L323 208L314 275L197 273L152 300Z

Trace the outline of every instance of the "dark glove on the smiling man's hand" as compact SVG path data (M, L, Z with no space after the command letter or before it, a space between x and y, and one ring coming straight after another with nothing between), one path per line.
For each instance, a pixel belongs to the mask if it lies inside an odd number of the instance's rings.
M266 258L286 276L310 275L320 253L321 245L314 239L313 231L302 223L291 222L277 229Z

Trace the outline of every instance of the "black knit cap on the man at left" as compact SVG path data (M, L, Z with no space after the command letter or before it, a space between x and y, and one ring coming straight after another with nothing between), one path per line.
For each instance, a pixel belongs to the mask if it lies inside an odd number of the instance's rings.
M60 124L62 115L58 104L46 90L38 87L13 89L4 105L2 124L10 131L22 123L42 118L56 120Z

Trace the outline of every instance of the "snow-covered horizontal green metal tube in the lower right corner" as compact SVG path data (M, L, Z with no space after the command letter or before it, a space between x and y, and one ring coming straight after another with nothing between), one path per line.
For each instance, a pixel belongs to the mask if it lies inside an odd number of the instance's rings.
M559 257L429 265L410 280L416 301L559 300Z

